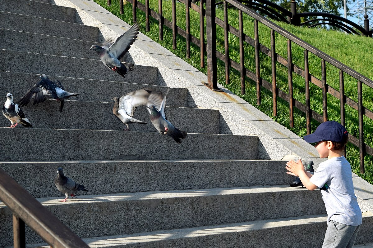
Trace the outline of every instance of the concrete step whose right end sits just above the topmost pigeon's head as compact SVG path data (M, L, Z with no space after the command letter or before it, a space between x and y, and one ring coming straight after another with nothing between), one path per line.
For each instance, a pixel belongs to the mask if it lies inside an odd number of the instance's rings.
M40 33L82 41L98 41L98 28L78 23L63 22L9 12L0 11L0 28L17 30L29 33ZM25 25L27 23L27 25ZM63 32L61 31L63 29ZM16 42L16 41L15 41ZM43 51L42 44L40 51Z

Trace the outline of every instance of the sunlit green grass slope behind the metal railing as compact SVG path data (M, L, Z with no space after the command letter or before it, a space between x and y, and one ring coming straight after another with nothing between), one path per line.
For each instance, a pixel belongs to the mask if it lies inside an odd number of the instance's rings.
M112 6L106 5L106 0L94 0L113 14L120 17L122 20L129 24L132 23L132 5L125 2L124 14L119 14L119 1L112 0ZM144 4L144 0L141 0ZM177 25L185 30L185 5L176 1L176 12L177 12ZM150 8L155 12L158 12L158 1L150 0ZM223 13L221 10L216 10L216 15L223 19ZM172 17L171 1L163 0L163 16L169 20ZM230 25L238 28L238 12L236 10L229 9L228 22ZM253 19L243 14L244 19L244 33L250 37L254 37L254 25ZM146 34L148 37L164 46L169 51L173 52L178 57L184 59L195 68L199 69L203 73L207 74L206 68L200 67L200 49L197 46L191 46L191 58L186 58L185 50L185 39L178 36L177 49L172 49L172 30L164 27L163 41L159 40L159 29L157 20L150 18L150 31L145 31L145 13L141 10L137 10L137 22L140 24L140 31ZM199 38L199 13L194 10L190 10L190 27L191 35ZM364 76L373 80L373 71L371 70L373 64L373 57L370 51L373 51L373 40L372 38L366 38L357 35L345 35L345 33L338 31L327 31L323 29L308 29L292 26L287 23L275 22L282 28L293 33L295 36L303 39L309 44L315 46L331 57L341 61L345 65L351 67L355 71L363 74ZM206 27L206 25L205 25ZM224 39L223 29L217 26L217 50L224 54ZM205 29L206 33L206 29ZM206 41L206 35L205 35ZM270 48L270 29L259 23L259 41L261 44ZM287 58L287 45L286 38L276 33L276 52L284 58ZM239 62L239 38L235 35L229 34L229 57L236 62ZM245 44L245 67L255 72L255 59L254 59L254 48L250 45ZM301 68L304 68L304 49L298 45L292 44L292 61L294 64ZM207 61L205 54L205 61ZM260 75L261 77L272 82L271 74L271 59L264 54L260 54ZM217 75L218 83L225 85L225 67L224 63L218 60ZM287 68L279 63L276 64L277 68L277 85L278 87L288 93L288 76ZM309 70L312 75L321 79L321 60L316 55L309 54ZM339 70L332 65L326 63L326 81L327 84L339 90ZM272 93L262 87L261 94L261 105L256 105L256 86L255 82L246 78L246 94L241 95L240 86L240 74L235 69L230 70L231 84L226 87L233 93L242 97L248 103L256 106L266 115L272 117L274 120L279 122L281 125L286 126L291 131L299 136L306 134L305 129L305 114L299 110L294 111L294 128L289 127L289 104L284 100L278 98L278 115L273 116L272 109ZM293 73L293 94L294 98L298 101L305 103L305 90L304 90L304 78ZM310 101L311 109L322 115L322 90L311 84L310 85ZM345 74L345 94L351 99L357 102L357 84L349 75ZM340 122L340 107L339 100L335 99L328 94L327 99L328 105L328 119L336 120ZM363 105L368 109L373 109L373 89L363 85ZM349 106L346 106L346 127L351 135L358 137L358 114L357 111ZM311 129L314 131L319 125L316 121L312 121ZM364 141L369 145L373 146L373 121L367 117L364 117ZM352 170L369 183L373 184L373 158L372 156L366 155L365 157L365 174L359 173L359 153L358 149L349 144L347 146L347 159L350 161Z

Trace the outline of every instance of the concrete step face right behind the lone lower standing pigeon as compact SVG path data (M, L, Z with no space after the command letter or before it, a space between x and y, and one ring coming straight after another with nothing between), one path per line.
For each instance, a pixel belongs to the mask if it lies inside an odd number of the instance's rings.
M272 160L117 160L12 161L0 167L34 197L58 197L51 183L56 168L84 185L89 192L108 194L182 189L211 189L254 185L289 185L286 161ZM30 177L32 171L35 176ZM36 176L37 175L37 176ZM102 175L110 184L98 183ZM120 175L120 176L119 176Z

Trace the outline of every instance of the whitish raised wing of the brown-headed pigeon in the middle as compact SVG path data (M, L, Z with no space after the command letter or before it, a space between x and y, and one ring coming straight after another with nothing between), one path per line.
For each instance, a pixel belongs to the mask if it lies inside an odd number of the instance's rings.
M150 88L143 88L125 94L119 99L119 110L124 110L127 115L134 116L136 108L147 104L148 97L153 91Z

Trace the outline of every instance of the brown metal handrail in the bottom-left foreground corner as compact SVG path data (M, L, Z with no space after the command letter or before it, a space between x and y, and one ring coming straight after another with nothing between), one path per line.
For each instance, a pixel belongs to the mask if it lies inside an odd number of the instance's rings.
M13 212L14 248L26 247L25 224L53 248L89 248L1 168L0 200Z

